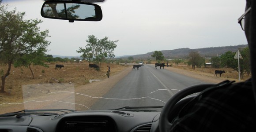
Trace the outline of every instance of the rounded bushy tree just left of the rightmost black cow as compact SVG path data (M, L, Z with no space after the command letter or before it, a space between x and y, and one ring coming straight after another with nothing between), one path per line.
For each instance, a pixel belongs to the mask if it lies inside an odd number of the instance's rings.
M198 51L191 51L188 53L189 59L188 59L188 65L192 65L193 70L195 70L195 67L201 67L204 65L204 58L200 56Z

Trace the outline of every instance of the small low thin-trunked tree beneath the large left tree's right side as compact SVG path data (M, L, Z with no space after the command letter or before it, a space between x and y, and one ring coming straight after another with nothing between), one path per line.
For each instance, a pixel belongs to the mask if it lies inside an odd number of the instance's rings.
M31 69L31 65L39 65L44 67L49 67L44 62L46 61L44 53L47 50L45 48L38 49L30 54L23 55L20 59L16 60L14 63L14 67L21 67L24 66L30 69L30 72L34 78L33 70Z

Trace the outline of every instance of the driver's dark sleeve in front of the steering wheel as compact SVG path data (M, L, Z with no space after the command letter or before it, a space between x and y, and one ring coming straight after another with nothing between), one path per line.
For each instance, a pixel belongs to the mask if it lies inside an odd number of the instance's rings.
M251 79L200 94L180 111L171 132L256 132Z

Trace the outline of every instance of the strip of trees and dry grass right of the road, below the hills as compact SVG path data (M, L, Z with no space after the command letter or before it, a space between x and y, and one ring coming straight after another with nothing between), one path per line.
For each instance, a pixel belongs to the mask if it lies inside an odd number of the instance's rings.
M250 58L248 47L239 48L242 59L239 60L240 64L240 77L241 80L247 80L251 77ZM236 52L226 51L222 55L213 57L203 57L196 50L188 53L186 58L168 59L164 57L161 51L154 51L150 59L135 59L129 56L127 59L116 59L122 63L138 63L143 61L145 64L154 63L167 63L169 66L183 70L190 70L194 72L210 73L209 76L215 73L215 70L225 70L226 73L222 74L223 78L238 79L238 59L234 59ZM219 74L218 74L219 76Z

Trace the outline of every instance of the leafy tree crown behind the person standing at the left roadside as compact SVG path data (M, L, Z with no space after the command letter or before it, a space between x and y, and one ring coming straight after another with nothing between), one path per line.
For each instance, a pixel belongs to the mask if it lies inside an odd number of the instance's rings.
M98 64L105 60L105 58L114 58L114 49L117 48L118 40L111 41L108 37L98 39L94 35L88 35L88 40L86 40L87 45L85 48L79 47L78 53L83 53L81 57L83 59L90 60L94 58L94 61Z

